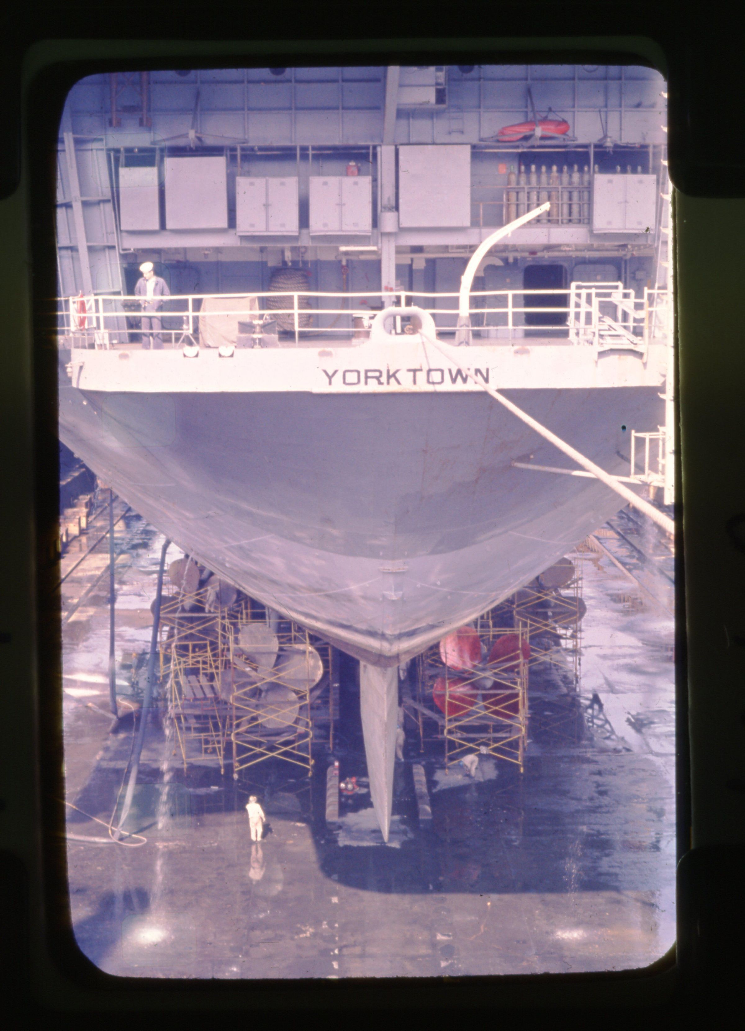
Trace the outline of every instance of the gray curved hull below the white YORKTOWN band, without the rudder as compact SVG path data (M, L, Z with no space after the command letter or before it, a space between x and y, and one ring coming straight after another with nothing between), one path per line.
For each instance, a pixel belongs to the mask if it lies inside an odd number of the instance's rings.
M609 472L655 388L506 396ZM509 596L619 507L484 393L102 394L62 385L64 442L251 596L391 666ZM621 427L626 427L623 430Z

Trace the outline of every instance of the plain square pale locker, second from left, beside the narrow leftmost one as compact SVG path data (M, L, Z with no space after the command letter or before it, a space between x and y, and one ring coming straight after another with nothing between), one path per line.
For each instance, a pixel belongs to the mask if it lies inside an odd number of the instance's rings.
M227 229L225 158L165 159L166 229Z

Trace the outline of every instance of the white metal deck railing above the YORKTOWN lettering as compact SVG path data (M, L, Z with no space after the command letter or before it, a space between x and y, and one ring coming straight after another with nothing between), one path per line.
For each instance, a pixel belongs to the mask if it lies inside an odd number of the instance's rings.
M550 303L554 298L556 303ZM231 300L234 306L228 303ZM142 334L158 335L170 347L200 338L202 345L217 346L216 333L235 342L241 331L238 323L251 324L242 328L245 335L253 333L263 345L278 345L282 340L285 345L291 341L312 344L319 337L336 337L341 345L354 345L367 339L376 311L411 305L429 311L439 334L455 333L458 294L419 291L180 294L164 298L155 312L142 312L138 297L97 294L61 299L58 326L67 344L77 347L134 344L141 342ZM645 354L652 340L668 338L670 325L666 291L645 289L642 297L636 297L620 282L573 282L560 290L474 291L469 313L474 343L516 339L527 332L589 344L597 351L613 347ZM142 315L160 320L160 327L143 330ZM406 318L395 322L396 333L411 332Z

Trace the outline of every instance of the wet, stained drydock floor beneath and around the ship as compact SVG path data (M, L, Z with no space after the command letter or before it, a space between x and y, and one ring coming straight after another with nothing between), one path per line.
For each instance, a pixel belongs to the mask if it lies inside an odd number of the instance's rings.
M161 542L134 514L118 524L118 659L149 647ZM107 575L95 581L105 547L63 585L68 833L104 838L91 818L108 823L132 745L131 721L108 733ZM673 620L603 555L586 556L583 579L581 691L600 696L614 733L606 723L577 744L536 734L522 775L499 764L473 781L425 756L432 821L421 826L422 758L408 741L386 847L364 795L343 803L338 834L326 828L324 763L313 778L277 761L252 781L210 763L185 772L153 725L135 796L144 843L67 842L83 953L120 976L190 978L571 973L659 959L675 939ZM343 663L343 776L364 773L353 670ZM250 793L268 818L253 847Z

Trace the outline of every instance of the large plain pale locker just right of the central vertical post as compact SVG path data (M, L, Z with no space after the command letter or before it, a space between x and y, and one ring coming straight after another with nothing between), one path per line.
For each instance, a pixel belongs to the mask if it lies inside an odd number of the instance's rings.
M398 212L401 228L469 226L471 146L399 146Z

